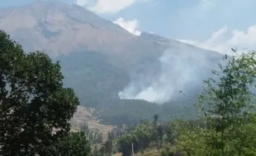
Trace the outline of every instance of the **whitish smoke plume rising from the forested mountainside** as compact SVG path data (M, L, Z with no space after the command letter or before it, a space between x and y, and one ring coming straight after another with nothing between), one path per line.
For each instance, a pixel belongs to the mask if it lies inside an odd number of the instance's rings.
M167 103L193 89L201 89L203 80L209 77L211 69L220 61L220 54L201 48L180 44L169 48L159 57L160 74L148 84L143 77L131 80L121 90L120 99L143 99L152 103ZM141 87L144 86L144 87Z

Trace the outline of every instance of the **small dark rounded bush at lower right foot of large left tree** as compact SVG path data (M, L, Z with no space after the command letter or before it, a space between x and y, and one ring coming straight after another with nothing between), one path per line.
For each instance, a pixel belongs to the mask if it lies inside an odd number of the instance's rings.
M92 155L90 143L83 132L71 132L69 136L59 140L55 149L55 155Z

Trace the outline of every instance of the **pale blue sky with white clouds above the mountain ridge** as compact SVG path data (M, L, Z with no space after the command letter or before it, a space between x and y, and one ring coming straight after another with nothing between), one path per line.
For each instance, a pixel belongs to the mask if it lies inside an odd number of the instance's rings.
M0 7L36 0L0 0ZM256 49L256 0L51 0L76 3L126 28L224 52Z

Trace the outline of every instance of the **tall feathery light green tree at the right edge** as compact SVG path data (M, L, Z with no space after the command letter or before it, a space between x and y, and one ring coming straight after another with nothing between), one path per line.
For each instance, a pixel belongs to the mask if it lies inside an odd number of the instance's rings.
M220 65L221 71L214 71L219 80L207 80L203 97L208 101L207 122L211 122L220 141L216 141L216 149L221 155L227 155L230 133L244 124L243 113L251 108L255 85L256 60L255 53L243 53L240 57L230 57L226 66ZM213 118L215 117L215 118Z

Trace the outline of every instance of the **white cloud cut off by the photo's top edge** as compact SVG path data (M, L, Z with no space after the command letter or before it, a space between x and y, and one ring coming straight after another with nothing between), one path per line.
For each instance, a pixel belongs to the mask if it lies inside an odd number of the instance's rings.
M77 4L97 13L117 13L136 2L150 0L77 0Z

